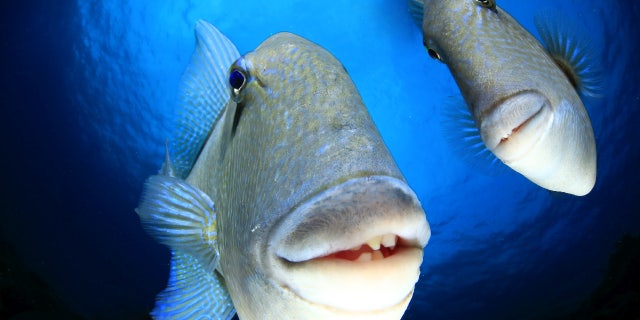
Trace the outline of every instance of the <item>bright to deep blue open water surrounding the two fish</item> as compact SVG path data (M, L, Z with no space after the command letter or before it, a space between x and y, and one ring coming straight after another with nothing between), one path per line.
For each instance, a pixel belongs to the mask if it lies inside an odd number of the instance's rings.
M0 4L0 240L3 259L18 261L0 270L0 318L36 308L6 298L33 294L11 282L16 274L40 279L56 308L83 318L139 319L153 306L169 253L133 208L173 134L200 18L240 52L291 31L349 70L433 232L406 319L562 317L602 280L616 241L640 232L637 1L498 2L529 30L535 12L561 12L602 51L603 97L587 105L598 180L585 197L453 152L440 115L458 89L428 58L405 1L239 2Z

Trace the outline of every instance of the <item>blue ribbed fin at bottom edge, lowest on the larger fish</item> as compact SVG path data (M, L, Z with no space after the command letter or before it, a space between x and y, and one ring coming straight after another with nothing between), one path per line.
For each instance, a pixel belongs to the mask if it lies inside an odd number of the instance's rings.
M154 319L231 319L236 313L224 279L189 254L173 252L167 288L156 297Z

